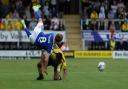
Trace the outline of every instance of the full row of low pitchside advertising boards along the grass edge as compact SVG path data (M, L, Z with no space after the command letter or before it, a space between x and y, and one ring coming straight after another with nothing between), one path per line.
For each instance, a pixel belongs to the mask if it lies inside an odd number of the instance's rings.
M0 59L37 59L40 50L0 50ZM64 51L66 58L70 59L128 59L128 51Z

